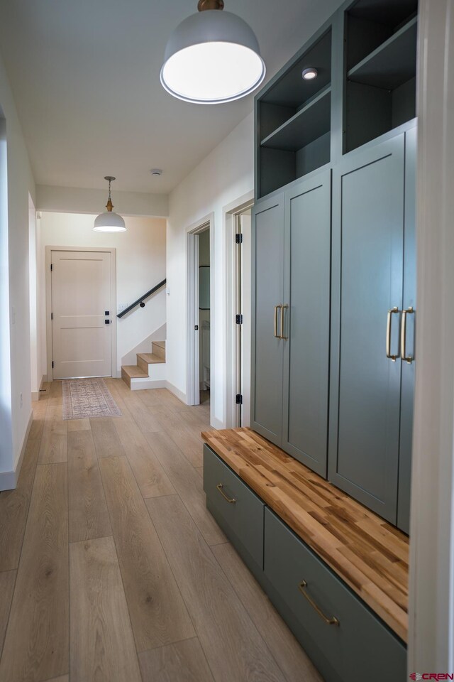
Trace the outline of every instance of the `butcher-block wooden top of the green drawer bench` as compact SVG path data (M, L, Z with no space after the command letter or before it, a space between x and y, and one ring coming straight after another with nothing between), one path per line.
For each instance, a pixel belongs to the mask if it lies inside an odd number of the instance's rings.
M409 538L249 428L201 435L406 642Z

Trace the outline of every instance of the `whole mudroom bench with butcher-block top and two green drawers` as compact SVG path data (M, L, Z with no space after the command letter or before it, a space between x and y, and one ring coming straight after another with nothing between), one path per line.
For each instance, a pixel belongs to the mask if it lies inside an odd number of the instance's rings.
M409 539L249 428L202 438L206 506L326 682L406 680Z

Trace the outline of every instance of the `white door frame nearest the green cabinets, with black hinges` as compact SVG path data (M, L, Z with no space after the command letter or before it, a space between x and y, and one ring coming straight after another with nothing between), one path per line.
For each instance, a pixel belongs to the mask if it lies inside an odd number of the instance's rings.
M244 194L233 202L230 202L222 209L224 224L224 239L226 249L226 354L225 362L225 391L224 391L224 416L225 428L233 428L236 424L235 411L235 388L236 388L236 330L232 325L232 320L237 313L236 310L236 259L235 259L235 232L236 216L252 209L254 205L254 192ZM252 272L252 263L250 263ZM252 310L251 310L252 313ZM252 321L252 320L251 320Z

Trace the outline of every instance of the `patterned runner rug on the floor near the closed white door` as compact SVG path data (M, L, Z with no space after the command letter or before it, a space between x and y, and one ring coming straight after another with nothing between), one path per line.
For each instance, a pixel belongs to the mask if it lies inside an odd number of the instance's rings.
M104 379L67 379L62 384L63 419L121 416Z

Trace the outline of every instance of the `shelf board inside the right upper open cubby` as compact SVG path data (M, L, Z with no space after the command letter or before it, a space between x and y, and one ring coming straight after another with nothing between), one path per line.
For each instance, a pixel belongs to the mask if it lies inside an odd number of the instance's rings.
M348 80L395 90L416 72L417 18L388 38L380 47L348 71Z

